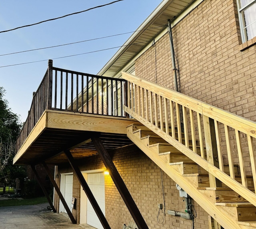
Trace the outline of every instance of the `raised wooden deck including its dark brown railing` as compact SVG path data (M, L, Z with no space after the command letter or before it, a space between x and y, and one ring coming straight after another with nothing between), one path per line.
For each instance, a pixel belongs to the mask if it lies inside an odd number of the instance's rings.
M126 127L135 120L121 109L127 103L126 81L52 66L36 92L16 140L14 164L60 164L97 153L91 137L100 137L107 150L132 144Z

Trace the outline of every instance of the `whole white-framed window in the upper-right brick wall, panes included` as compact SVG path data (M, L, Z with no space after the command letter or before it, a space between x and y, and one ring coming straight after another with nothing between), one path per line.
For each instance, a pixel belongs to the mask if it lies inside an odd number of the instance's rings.
M256 37L256 0L237 0L242 41Z

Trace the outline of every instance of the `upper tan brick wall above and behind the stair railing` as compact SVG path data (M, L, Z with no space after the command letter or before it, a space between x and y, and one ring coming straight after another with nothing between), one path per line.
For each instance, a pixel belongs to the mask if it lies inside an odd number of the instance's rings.
M174 26L178 85L183 94L256 121L256 49L254 45L240 51L239 30L236 0L206 0ZM169 35L141 55L135 67L139 77L174 89ZM223 126L220 132L224 163L228 163ZM230 138L234 163L238 164L231 128ZM245 134L241 141L246 172L251 175Z

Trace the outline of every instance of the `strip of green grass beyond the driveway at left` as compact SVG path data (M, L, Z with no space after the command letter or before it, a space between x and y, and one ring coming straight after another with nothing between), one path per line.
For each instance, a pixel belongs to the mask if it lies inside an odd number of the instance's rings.
M45 196L36 197L32 199L6 199L6 200L0 200L0 207L34 205L34 204L46 203L46 202L47 202L47 199Z

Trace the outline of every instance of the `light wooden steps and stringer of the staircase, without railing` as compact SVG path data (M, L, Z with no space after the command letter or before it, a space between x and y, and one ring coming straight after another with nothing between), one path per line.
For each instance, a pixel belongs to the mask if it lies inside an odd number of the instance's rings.
M143 124L128 126L127 136L222 227L256 228L254 205L223 183L220 188L210 188L208 172L166 140ZM200 148L197 153L200 154ZM237 165L234 165L234 170L240 178ZM224 172L229 174L228 166L224 166ZM247 177L247 183L253 190L251 179ZM237 180L241 182L241 179Z

